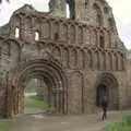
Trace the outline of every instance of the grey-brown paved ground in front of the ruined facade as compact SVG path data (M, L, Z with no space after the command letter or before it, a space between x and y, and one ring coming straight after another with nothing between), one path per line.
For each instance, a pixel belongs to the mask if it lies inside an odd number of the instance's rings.
M105 124L121 121L131 111L110 111L108 119L102 121L100 115L45 116L24 115L14 119L11 131L104 131Z

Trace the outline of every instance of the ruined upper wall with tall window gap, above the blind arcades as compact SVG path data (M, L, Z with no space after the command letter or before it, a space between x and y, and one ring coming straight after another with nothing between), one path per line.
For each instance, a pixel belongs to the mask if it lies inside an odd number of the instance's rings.
M106 0L50 0L50 13L55 16L67 16L69 5L70 19L92 26L116 28L112 10Z

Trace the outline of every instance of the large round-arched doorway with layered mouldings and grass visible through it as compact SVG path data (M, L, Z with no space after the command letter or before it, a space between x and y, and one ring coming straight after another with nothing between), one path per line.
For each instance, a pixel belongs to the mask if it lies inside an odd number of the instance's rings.
M8 116L23 114L25 83L33 78L46 80L50 87L50 107L56 114L67 114L68 82L62 67L52 59L35 59L22 62L9 74Z

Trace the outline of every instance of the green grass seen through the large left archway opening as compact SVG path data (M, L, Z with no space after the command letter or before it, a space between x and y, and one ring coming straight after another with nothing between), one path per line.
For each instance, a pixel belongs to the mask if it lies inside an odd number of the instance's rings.
M48 104L36 95L25 97L25 107L45 109Z

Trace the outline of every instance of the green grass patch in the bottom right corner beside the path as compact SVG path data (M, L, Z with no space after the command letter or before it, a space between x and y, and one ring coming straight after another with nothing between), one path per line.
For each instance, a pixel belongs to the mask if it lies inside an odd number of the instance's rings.
M124 126L123 122L107 124L105 131L131 131L131 126Z

